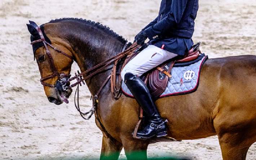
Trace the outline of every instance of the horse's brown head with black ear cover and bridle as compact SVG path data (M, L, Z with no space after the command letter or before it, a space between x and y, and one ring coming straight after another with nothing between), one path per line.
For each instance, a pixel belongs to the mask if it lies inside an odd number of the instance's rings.
M50 24L37 26L35 22L27 24L31 34L31 45L40 74L41 84L49 102L60 105L68 103L72 89L67 88L70 83L73 54L70 45L61 38L58 30Z

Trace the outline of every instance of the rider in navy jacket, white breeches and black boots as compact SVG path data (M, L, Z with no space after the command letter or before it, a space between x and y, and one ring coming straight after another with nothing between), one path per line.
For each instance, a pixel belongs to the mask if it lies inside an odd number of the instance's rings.
M149 89L140 76L164 61L184 56L191 46L198 0L162 0L158 17L139 32L134 41L143 44L149 38L149 46L142 50L123 68L122 79L142 107L149 124L137 132L141 138L167 135L167 129L160 116Z

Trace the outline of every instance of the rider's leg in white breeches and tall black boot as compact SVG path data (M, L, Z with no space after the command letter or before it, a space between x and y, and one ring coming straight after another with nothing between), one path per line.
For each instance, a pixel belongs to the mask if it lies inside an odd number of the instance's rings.
M175 56L176 54L150 45L123 68L121 76L125 84L149 117L149 124L143 130L138 131L138 137L151 138L155 135L160 137L167 134L165 124L151 98L149 89L139 76Z

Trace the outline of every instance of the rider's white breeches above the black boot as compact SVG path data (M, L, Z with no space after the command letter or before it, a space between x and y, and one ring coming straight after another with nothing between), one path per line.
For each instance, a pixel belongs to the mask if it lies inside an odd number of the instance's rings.
M128 72L141 76L145 72L162 64L164 61L176 57L177 54L168 52L154 45L149 45L124 66L121 76Z

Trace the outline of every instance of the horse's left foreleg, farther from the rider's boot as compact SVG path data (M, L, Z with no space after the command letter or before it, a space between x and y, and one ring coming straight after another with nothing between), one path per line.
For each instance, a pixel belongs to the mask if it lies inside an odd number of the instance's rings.
M103 133L100 160L117 160L122 148L122 143Z

